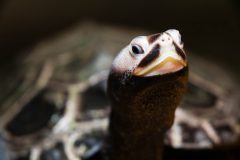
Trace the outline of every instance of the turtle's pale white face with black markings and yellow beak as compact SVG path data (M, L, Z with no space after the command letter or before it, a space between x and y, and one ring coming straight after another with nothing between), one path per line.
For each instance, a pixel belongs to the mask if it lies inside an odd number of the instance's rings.
M181 35L171 29L163 33L134 38L113 62L118 72L134 76L164 75L187 66Z

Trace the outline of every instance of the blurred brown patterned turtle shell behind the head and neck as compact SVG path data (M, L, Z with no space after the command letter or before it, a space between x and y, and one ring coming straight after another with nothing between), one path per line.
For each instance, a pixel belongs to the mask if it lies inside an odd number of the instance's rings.
M18 74L9 75L16 83L5 86L9 92L0 108L1 135L13 159L58 159L55 152L65 159L98 156L110 114L105 94L108 69L114 55L142 34L149 32L85 23L27 50L31 54L19 60ZM202 57L188 58L188 92L164 135L166 153L238 145L239 92L234 77Z

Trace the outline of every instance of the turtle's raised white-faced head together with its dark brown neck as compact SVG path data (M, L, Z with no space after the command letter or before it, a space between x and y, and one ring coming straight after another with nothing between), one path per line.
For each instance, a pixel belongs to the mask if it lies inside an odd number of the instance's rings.
M173 124L187 80L177 30L134 38L115 58L108 77L107 159L161 160L163 134Z

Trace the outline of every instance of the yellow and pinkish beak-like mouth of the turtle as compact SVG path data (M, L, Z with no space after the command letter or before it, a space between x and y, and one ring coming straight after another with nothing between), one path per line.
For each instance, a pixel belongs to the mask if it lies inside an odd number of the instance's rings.
M181 59L167 57L162 61L154 61L146 67L138 67L133 74L141 77L164 75L181 70L187 66L186 62Z

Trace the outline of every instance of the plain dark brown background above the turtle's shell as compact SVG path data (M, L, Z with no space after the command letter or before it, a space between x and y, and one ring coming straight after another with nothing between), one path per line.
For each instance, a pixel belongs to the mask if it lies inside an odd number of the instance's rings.
M1 67L81 20L160 32L179 29L187 50L240 69L238 0L0 0Z

